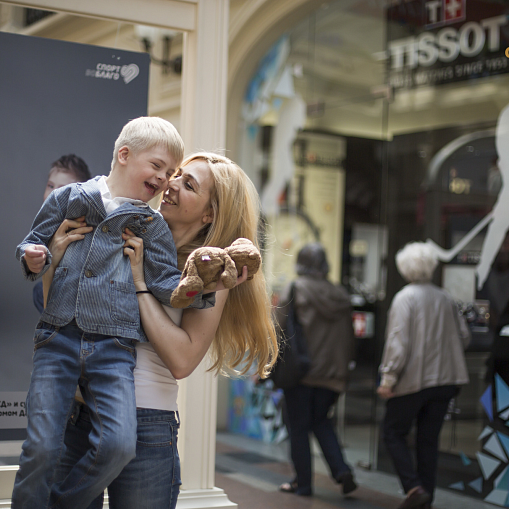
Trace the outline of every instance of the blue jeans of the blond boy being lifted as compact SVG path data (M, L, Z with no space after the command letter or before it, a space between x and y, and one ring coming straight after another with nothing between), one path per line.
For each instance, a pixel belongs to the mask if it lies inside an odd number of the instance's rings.
M131 340L85 333L74 321L64 327L39 323L13 509L86 509L134 458L135 364ZM91 410L89 449L54 484L78 381Z

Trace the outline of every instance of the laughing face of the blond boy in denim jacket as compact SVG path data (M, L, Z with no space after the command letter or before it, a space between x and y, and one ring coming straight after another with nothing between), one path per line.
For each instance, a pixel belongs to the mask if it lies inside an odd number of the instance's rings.
M154 146L135 154L128 147L118 152L120 172L116 194L147 202L166 191L176 162L165 147Z

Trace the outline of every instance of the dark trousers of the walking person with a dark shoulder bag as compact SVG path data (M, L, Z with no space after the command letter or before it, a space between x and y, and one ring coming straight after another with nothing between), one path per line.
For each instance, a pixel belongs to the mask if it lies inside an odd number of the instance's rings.
M298 385L284 391L293 466L299 495L312 493L312 465L309 433L316 436L334 479L350 472L343 459L329 410L339 394L320 387Z

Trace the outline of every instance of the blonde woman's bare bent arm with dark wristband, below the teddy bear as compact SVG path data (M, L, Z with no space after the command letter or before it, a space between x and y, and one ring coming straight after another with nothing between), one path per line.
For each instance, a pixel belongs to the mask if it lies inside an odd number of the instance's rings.
M143 240L124 234L124 253L129 256L136 291L146 291L143 273ZM247 267L237 284L247 279ZM150 293L138 293L141 322L154 350L177 379L186 378L200 364L216 334L228 290L216 293L216 304L209 309L185 309L181 326L175 325L165 308Z

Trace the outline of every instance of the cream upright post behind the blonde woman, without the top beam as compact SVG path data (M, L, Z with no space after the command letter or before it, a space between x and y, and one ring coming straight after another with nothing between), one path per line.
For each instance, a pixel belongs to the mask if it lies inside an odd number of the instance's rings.
M195 30L184 35L181 134L188 154L225 148L228 12L229 0L199 0ZM237 507L214 487L217 378L207 361L179 383L179 509Z

